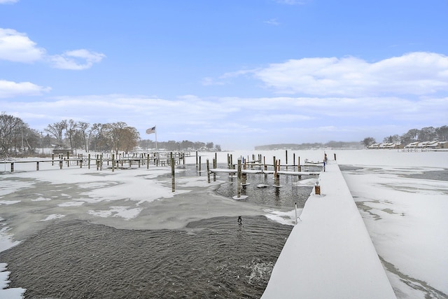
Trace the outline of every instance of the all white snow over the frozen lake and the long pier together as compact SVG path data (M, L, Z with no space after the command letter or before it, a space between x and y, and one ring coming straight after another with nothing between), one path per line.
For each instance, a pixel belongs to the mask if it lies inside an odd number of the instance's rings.
M280 292L298 288L302 279L307 281L314 277L318 282L316 288L331 292L331 298L346 294L345 287L349 288L352 298L366 298L365 293L360 293L365 291L367 284L363 280L367 278L358 272L358 267L362 266L369 274L371 286L381 285L377 290L385 292L381 298L390 295L383 287L389 281L397 298L446 297L448 231L445 228L448 227L448 218L445 211L448 210L448 184L446 181L414 179L404 175L448 169L448 152L325 152L330 160L335 153L339 165L351 165L362 170L344 171L346 183L339 186L335 181L325 179L332 174L330 170L334 165L330 163L327 166L330 168L319 179L322 195L311 195L305 208L297 210L300 218L282 252L286 258L279 258L272 277L276 277L277 272L283 273L282 276L297 273L302 276L295 276L293 280L279 279ZM269 161L272 156L285 161L285 151L241 151L218 153L218 162L226 162L228 154L232 154L236 161L239 156L249 157L253 153L265 155ZM324 151L288 151L289 165L293 165L293 153L302 160L319 161ZM204 161L205 158L213 159L215 153L200 155ZM193 163L193 160L194 157L187 162ZM60 217L81 218L129 229L183 228L186 223L204 217L241 214L264 214L279 223L295 224L294 209L266 209L213 195L209 189L223 181L209 184L207 175L176 178L176 191L173 193L169 176L160 179L160 175L170 174L169 167L151 165L149 169L141 167L111 172L111 169L97 171L93 167L80 169L75 166L66 168L65 165L61 170L58 165L51 166L45 162L40 163L39 171L36 171L34 163L15 163L14 166L15 172L10 173L5 167L6 172L0 173L0 216L3 217L0 218L0 251L19 244L20 240L43 228L42 225ZM297 184L313 186L315 181L315 178L304 178ZM348 186L350 194L342 189L337 195L327 192L344 186ZM28 190L26 197L18 197L19 193ZM176 200L173 200L174 196ZM353 199L337 204L339 197L351 196ZM27 205L38 208L30 211ZM183 209L178 209L180 206ZM346 224L340 226L341 223ZM349 230L353 230L352 235L346 234ZM328 235L329 232L333 233ZM327 255L328 252L331 254ZM374 259L377 255L381 258L382 267L379 267L379 260ZM341 256L341 260L335 261L332 256ZM295 268L290 267L297 262L294 260L300 260L300 265ZM343 260L350 262L342 263ZM25 290L7 288L7 265L0 265L3 269L0 286L4 288L0 288L0 298L22 298ZM384 280L384 270L387 281ZM275 284L275 278L272 279ZM290 285L286 281L290 281ZM357 281L365 284L356 284ZM269 281L269 285L272 283ZM297 290L300 298L316 298L316 295L307 297L307 288L313 287L308 284L306 288ZM321 298L328 298L328 293ZM276 298L281 298L280 295L285 294L277 295Z

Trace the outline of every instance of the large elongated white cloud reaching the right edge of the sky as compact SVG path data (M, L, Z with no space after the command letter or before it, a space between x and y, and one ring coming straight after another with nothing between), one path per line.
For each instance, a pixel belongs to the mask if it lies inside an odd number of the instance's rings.
M253 71L274 92L318 96L430 95L448 91L448 57L408 53L379 62L316 57Z

